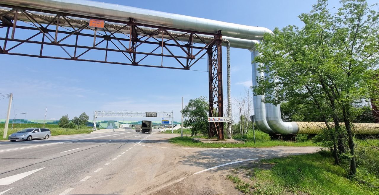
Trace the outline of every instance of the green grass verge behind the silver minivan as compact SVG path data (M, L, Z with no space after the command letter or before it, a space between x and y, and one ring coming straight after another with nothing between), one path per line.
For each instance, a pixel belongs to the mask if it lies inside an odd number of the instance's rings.
M28 127L40 127L41 128L41 127L43 127L43 124L21 124L21 125L15 124L13 127L17 127L17 128L11 129L11 125L8 128L8 133L7 133L6 139L8 139L8 136L11 135L12 133L16 133L19 130L22 130L24 128L28 128ZM21 128L19 126L21 126ZM3 139L4 127L5 127L4 124L0 125L0 140L5 140L5 139ZM79 128L79 129L77 129L77 128L60 128L58 125L45 125L45 128L50 129L52 136L54 136L54 135L73 135L73 134L91 133L92 132L91 128Z

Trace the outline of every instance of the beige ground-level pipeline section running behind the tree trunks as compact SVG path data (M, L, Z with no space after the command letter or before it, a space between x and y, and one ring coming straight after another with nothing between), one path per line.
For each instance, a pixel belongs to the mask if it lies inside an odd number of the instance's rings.
M321 132L322 128L326 128L324 122L296 122L299 127L297 134L318 134ZM330 125L333 125L330 123ZM340 123L341 126L345 124ZM378 123L353 123L353 133L355 134L365 134L374 135L379 134L379 124Z

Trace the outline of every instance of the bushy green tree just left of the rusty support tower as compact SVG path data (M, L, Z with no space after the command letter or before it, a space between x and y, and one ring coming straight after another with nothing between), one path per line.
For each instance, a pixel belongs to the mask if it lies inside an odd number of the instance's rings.
M208 135L208 101L205 97L189 100L183 109L183 117L184 127L191 127L191 136Z

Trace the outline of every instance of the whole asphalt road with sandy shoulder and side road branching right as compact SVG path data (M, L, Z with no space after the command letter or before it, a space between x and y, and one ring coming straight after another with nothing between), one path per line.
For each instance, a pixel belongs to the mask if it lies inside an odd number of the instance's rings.
M173 136L128 130L0 142L0 195L157 193L211 167L317 149L186 149L169 144Z

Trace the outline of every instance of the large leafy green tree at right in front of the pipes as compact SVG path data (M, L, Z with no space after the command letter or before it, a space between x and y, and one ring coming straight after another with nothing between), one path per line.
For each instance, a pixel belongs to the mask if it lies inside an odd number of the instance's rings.
M335 163L336 143L344 152L343 137L347 137L350 174L355 175L352 121L362 111L354 105L368 101L369 89L374 87L368 80L379 61L379 15L365 0L342 0L335 14L327 9L326 0L319 0L299 18L304 22L301 29L287 26L265 35L259 46L262 56L255 60L264 64L260 70L269 75L258 78L253 92L274 94L263 100L273 104L290 101L315 106L330 132Z

